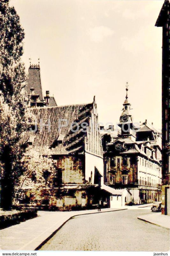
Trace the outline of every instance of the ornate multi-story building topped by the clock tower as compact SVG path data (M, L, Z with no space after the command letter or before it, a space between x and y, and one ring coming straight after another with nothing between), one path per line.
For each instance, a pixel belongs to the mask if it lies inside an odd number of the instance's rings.
M162 177L161 133L148 124L147 120L135 127L130 106L126 94L118 124L121 130L117 136L111 129L101 131L104 183L117 191L126 188L131 198L128 201L125 197L124 203L159 201Z

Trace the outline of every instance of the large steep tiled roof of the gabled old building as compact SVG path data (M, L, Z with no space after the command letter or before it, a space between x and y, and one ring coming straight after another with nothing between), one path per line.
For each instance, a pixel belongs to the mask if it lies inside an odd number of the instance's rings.
M43 154L47 148L51 148L51 154L68 155L84 153L84 144L86 132L81 131L81 127L77 132L71 132L70 126L76 122L79 125L87 122L89 125L93 103L77 104L59 107L36 107L32 108L32 113L37 119L37 132L25 131L22 134L20 144L25 144L31 135L35 135L32 143L32 149ZM63 121L61 121L63 119ZM41 125L48 124L49 126ZM59 129L59 125L61 129ZM77 127L73 127L76 130ZM60 137L59 137L60 136ZM62 142L57 139L62 137Z

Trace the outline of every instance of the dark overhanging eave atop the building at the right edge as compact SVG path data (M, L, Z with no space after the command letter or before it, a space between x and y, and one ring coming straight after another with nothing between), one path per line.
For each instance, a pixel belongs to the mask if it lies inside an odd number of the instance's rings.
M163 27L165 23L167 22L170 23L170 18L168 14L169 11L170 11L170 2L169 0L165 0L160 10L158 19L156 21L156 24L155 24L156 27Z

